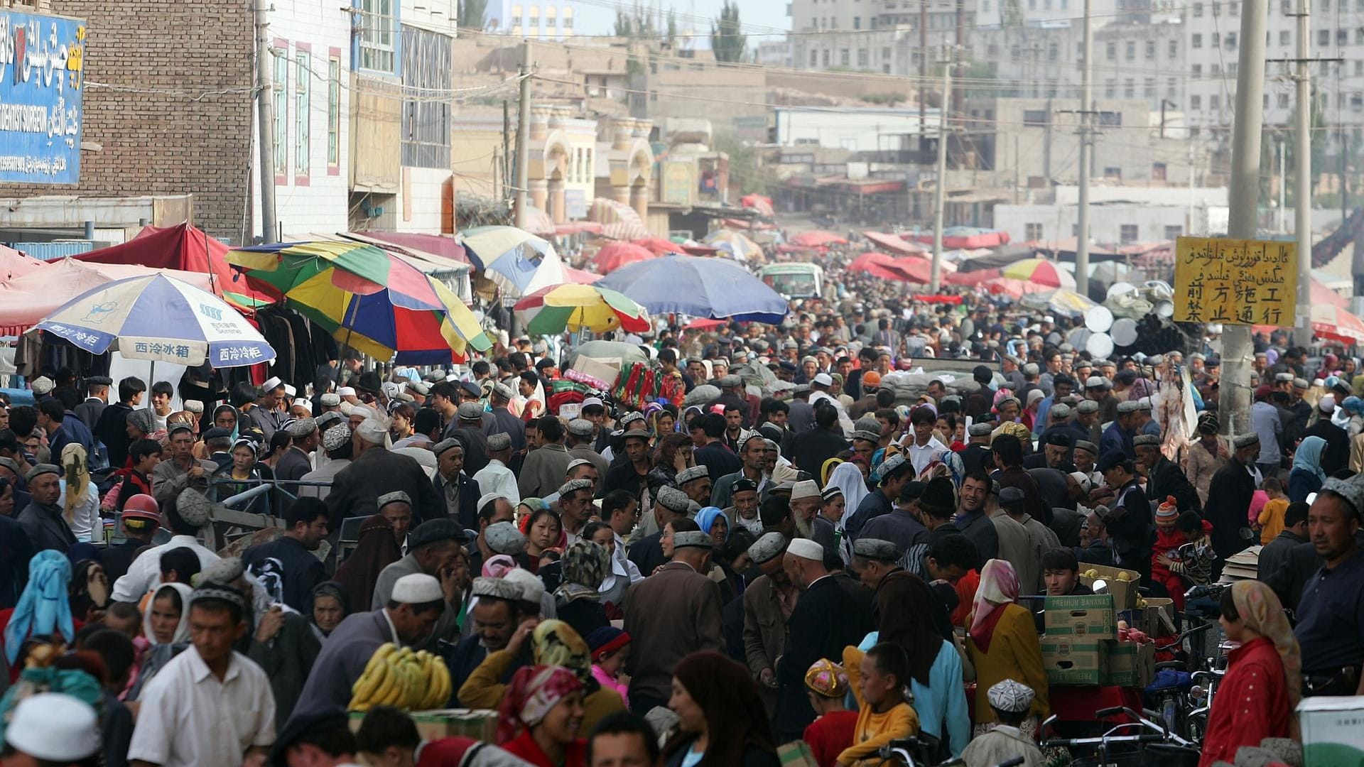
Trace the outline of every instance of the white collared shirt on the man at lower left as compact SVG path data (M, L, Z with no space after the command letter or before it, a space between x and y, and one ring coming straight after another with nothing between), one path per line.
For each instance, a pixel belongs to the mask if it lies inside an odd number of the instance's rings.
M128 760L162 767L240 767L251 747L274 742L274 693L261 666L232 654L222 681L194 647L147 682Z

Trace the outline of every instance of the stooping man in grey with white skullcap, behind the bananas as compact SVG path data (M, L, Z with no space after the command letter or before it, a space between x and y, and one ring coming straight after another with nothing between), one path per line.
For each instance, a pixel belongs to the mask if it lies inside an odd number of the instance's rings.
M435 576L411 573L393 581L385 606L352 613L327 637L293 715L345 710L351 703L351 686L379 646L390 641L398 647L423 644L445 610L445 592Z

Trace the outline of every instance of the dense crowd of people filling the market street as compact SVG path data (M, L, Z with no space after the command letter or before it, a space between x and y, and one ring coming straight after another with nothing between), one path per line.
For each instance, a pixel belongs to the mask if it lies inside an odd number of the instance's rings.
M1091 359L1067 318L846 278L780 326L625 338L679 384L642 408L566 407L531 338L179 411L169 382L34 379L0 411L0 763L758 767L803 741L828 767L917 737L1039 766L1071 692L1037 596L1093 564L1183 609L1252 543L1202 763L1364 692L1354 359L1259 337L1228 442L1215 337ZM229 498L271 524L225 540ZM348 717L387 644L495 722Z

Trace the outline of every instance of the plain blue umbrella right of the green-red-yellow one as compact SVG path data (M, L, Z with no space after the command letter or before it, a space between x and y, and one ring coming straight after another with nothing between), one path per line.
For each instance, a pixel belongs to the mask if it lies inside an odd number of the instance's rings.
M679 313L775 325L790 311L776 291L724 258L664 255L622 266L593 284L625 293L655 315Z

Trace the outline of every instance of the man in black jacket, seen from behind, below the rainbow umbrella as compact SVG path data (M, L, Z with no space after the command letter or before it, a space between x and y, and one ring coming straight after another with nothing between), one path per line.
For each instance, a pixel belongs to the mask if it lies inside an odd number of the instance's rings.
M337 472L327 494L331 519L370 516L379 495L402 490L412 498L413 523L445 519L445 505L415 459L385 449L389 424L371 415L351 441L351 465ZM475 495L477 497L477 495Z

